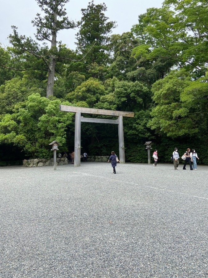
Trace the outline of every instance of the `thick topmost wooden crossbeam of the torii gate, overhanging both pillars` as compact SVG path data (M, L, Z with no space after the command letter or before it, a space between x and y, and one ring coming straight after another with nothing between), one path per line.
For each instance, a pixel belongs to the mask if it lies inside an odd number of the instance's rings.
M65 112L80 112L80 113L85 113L85 114L123 116L123 117L133 117L134 116L134 112L104 110L104 109L77 107L77 106L69 106L69 105L62 105L62 104L59 105L59 109L60 109L60 111L65 111Z

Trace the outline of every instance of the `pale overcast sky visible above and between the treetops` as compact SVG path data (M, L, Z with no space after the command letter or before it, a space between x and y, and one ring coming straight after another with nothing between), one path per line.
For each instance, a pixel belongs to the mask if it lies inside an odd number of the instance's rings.
M87 8L90 0L71 0L65 5L69 19L80 20L81 9ZM106 16L109 20L116 21L118 27L113 29L113 34L122 34L130 31L133 24L138 22L138 15L146 12L147 8L162 6L162 0L94 0L95 4L105 3L108 10ZM1 1L0 17L0 43L2 47L9 45L7 36L11 33L11 25L18 27L21 35L34 37L36 32L31 20L40 13L40 8L35 0L6 0ZM71 49L75 49L75 30L60 31L57 40L67 44Z

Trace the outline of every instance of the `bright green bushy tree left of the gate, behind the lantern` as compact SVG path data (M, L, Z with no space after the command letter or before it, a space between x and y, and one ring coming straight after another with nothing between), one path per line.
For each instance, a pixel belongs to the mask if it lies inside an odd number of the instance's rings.
M0 143L14 143L33 158L50 157L48 144L54 140L67 150L66 127L73 114L61 112L59 104L60 100L49 100L38 93L16 104L13 114L1 116Z

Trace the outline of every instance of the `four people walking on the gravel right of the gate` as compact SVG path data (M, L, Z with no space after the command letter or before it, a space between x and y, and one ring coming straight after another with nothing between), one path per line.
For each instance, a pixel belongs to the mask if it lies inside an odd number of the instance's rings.
M158 160L158 154L157 154L157 150L154 151L153 153L153 158L154 158L154 166L157 166L157 160ZM179 166L179 159L180 156L178 154L178 148L175 148L173 151L173 165L174 165L174 170L178 170L178 166ZM190 170L197 170L197 163L196 160L199 159L198 155L196 153L196 151L193 149L192 151L190 150L190 148L188 148L186 150L186 152L184 153L184 155L182 156L182 159L185 160L185 163L183 165L183 170L186 170L186 164L189 163L190 166ZM191 162L193 163L193 165L191 164Z

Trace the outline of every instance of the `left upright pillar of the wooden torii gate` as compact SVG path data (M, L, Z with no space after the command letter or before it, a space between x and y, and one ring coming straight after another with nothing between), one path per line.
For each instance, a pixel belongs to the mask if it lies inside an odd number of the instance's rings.
M75 113L75 136L74 136L74 166L80 166L81 154L81 113Z

